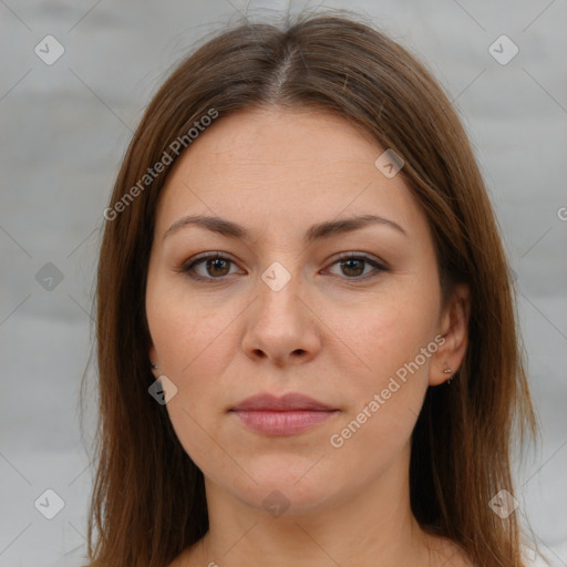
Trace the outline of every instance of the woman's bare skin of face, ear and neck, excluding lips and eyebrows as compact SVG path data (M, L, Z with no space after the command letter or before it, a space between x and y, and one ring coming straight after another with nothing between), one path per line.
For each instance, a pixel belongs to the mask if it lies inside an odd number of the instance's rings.
M468 292L458 286L442 305L427 219L402 175L374 166L383 151L326 112L246 110L219 117L168 175L148 267L148 355L177 388L166 408L205 475L210 523L172 567L471 565L420 528L409 499L411 433L426 389L463 360ZM405 235L373 224L302 241L312 224L364 214ZM230 219L250 238L196 226L164 237L186 215ZM230 261L194 267L208 281L182 271L216 251ZM261 279L275 261L290 276L278 291ZM436 352L333 447L330 436L436 336ZM228 413L260 392L301 392L338 411L268 437ZM262 506L274 489L289 503L277 517Z

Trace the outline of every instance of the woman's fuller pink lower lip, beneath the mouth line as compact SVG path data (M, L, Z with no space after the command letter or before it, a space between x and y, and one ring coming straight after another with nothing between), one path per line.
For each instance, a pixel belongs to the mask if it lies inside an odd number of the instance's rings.
M295 410L284 412L236 410L233 411L233 413L235 413L245 425L264 435L293 435L319 425L319 423L328 420L337 412L334 410Z

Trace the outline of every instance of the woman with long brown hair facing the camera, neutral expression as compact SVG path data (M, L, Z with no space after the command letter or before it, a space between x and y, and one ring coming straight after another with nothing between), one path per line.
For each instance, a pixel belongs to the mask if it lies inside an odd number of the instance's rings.
M104 216L90 565L525 565L513 290L413 55L337 16L218 34Z

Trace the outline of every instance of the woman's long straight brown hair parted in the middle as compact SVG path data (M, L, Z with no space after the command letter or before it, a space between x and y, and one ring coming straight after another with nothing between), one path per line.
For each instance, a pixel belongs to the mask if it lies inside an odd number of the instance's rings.
M336 112L403 157L401 174L433 230L444 297L452 284L466 282L472 298L465 360L450 386L427 390L413 433L412 511L423 528L454 540L477 565L523 565L517 514L502 519L488 506L498 491L514 493L513 434L524 439L536 422L514 289L484 182L430 71L385 34L336 13L303 14L284 30L266 23L225 30L177 66L134 134L97 274L90 565L163 567L208 529L203 473L147 391L155 379L145 284L166 175L146 179L147 188L140 181L212 109L221 120L266 105ZM128 192L134 198L125 202Z

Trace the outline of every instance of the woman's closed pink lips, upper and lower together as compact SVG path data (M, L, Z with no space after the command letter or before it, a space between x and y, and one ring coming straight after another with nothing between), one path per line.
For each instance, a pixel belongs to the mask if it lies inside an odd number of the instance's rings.
M252 395L229 410L247 427L270 436L295 435L310 430L338 411L300 393Z

